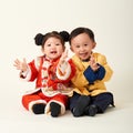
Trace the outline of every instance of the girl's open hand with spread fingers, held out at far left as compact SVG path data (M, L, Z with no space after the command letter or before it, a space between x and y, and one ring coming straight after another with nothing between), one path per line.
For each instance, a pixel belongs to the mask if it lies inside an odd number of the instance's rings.
M25 59L23 59L23 61L21 62L20 60L16 60L14 61L14 64L13 64L18 70L21 70L21 71L27 71L28 70L28 64L27 64L27 61Z

